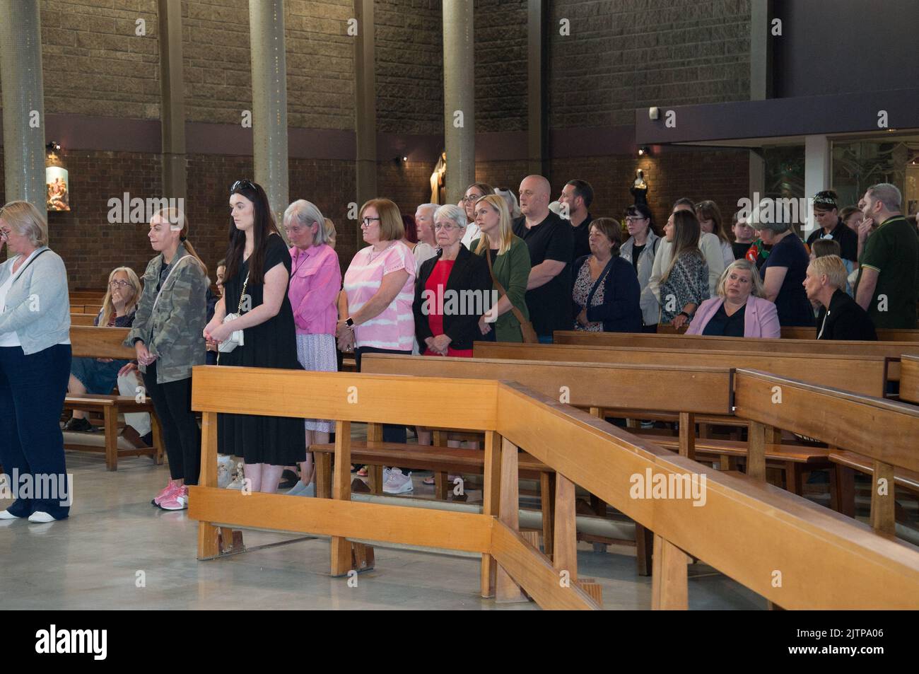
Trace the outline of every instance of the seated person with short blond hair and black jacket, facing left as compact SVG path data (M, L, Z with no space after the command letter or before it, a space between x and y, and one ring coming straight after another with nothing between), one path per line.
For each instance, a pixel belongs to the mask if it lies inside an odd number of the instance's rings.
M841 257L827 255L811 260L803 286L807 298L821 305L818 339L878 340L868 312L843 290L845 263Z

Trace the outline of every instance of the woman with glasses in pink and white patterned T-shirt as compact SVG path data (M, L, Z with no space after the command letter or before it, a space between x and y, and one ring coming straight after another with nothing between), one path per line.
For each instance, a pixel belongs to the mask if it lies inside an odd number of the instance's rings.
M365 353L410 356L414 343L415 262L402 242L405 235L399 207L388 199L371 199L358 216L368 246L357 252L345 272L338 296L338 346L355 350L357 371ZM404 442L404 426L383 426L384 442ZM398 468L384 476L383 491L403 494L412 480Z

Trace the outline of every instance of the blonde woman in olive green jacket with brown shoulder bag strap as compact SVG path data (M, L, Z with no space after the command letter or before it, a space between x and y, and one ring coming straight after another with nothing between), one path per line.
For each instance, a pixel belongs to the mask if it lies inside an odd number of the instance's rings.
M475 223L482 230L482 237L472 242L470 249L478 255L492 258L494 279L505 289L497 303L494 313L498 318L494 323L487 322L489 314L479 320L483 340L499 342L523 342L520 322L511 311L516 309L529 320L527 309L527 280L529 278L529 249L527 244L511 230L511 216L507 211L507 202L498 195L488 194L475 202ZM493 286L493 294L500 293ZM494 337L490 334L494 327Z

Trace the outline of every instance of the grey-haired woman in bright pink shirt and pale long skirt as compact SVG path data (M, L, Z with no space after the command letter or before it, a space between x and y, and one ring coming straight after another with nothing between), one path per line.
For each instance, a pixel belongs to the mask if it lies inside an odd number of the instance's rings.
M297 200L284 211L284 231L290 246L288 298L297 326L297 359L304 370L334 372L335 303L342 285L342 272L335 250L328 245L322 212L309 201ZM306 419L306 446L329 441L334 422ZM312 454L301 463L301 480L288 494L312 496Z

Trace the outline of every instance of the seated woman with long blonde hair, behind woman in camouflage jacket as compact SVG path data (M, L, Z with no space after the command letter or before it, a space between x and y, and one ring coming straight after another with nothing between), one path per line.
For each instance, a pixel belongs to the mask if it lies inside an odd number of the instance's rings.
M130 327L134 323L137 302L141 297L141 281L133 269L119 267L108 275L108 290L102 299L102 310L93 321L94 326ZM119 370L128 360L110 358L74 358L70 365L68 394L110 394L118 383ZM82 410L74 409L74 416L64 425L64 430L92 430L93 426Z

